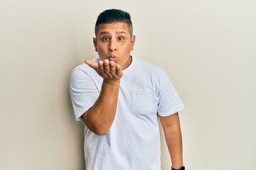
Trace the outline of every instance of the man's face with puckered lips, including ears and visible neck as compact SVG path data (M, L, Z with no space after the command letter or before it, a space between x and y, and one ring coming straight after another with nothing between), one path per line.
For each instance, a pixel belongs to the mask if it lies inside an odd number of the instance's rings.
M133 50L135 36L130 35L127 23L100 24L97 38L93 38L95 51L101 60L108 59L126 69L132 62L130 53Z

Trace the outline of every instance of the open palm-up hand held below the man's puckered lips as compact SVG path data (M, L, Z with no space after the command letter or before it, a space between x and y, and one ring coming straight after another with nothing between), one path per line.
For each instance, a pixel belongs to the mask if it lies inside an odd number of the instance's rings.
M105 82L112 82L121 79L123 73L121 66L117 62L110 60L99 61L97 63L90 60L85 60L85 63L95 69Z

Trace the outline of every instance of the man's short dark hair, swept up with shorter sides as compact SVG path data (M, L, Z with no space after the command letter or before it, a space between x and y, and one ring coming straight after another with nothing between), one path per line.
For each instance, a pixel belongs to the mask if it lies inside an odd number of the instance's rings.
M132 21L131 16L126 11L122 11L120 9L107 9L100 13L100 15L97 17L97 21L95 23L95 36L97 36L97 31L102 23L118 23L123 22L127 23L127 26L131 28L131 36L132 36Z

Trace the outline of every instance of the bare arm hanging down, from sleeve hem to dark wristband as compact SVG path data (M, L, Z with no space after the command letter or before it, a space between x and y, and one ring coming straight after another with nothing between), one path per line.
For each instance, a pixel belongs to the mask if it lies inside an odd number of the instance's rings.
M171 164L174 169L183 166L182 137L178 113L166 117L160 116L161 125L164 129L166 144L171 157Z

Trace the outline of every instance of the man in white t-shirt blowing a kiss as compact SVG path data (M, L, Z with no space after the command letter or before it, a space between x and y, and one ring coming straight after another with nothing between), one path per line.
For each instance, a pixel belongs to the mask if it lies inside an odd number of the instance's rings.
M70 94L85 123L87 170L160 170L159 121L172 169L184 169L178 111L184 106L166 73L132 57L129 13L100 13L93 43L99 57L73 69Z

